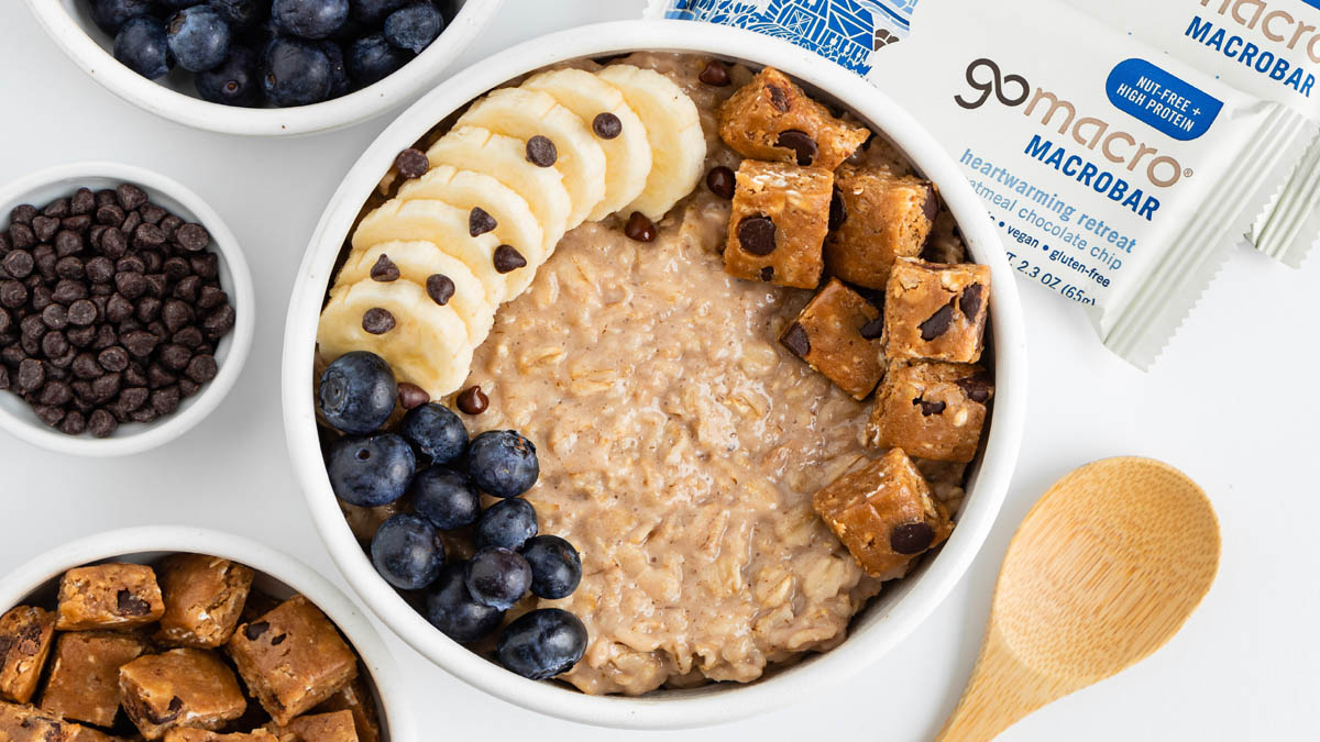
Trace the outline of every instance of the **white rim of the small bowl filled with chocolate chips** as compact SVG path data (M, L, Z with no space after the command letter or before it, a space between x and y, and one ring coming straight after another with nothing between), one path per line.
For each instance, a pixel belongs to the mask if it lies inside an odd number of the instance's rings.
M110 178L131 182L177 201L211 234L213 248L224 260L232 284L224 287L224 290L230 294L230 304L235 309L235 322L228 353L219 367L219 372L206 383L187 408L168 415L158 421L149 422L141 430L128 434L114 434L107 438L91 438L87 436L59 433L45 425L17 417L4 407L0 407L0 429L34 446L73 455L129 455L178 438L209 416L230 393L235 382L238 382L239 374L243 372L248 351L252 347L252 335L256 327L256 292L252 288L252 273L248 269L247 259L243 256L243 250L239 247L238 238L234 236L234 232L224 223L224 219L201 195L183 184L136 165L88 160L54 165L22 176L0 186L0 207L5 207L4 213L0 214L0 219L3 219L0 223L8 224L8 205L25 203L26 197L41 187L59 181L78 181L79 178Z

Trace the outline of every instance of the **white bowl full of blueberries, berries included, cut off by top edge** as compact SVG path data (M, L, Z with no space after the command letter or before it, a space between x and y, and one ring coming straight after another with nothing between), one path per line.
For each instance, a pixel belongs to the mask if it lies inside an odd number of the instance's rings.
M407 102L502 0L28 0L96 82L224 133L341 128Z

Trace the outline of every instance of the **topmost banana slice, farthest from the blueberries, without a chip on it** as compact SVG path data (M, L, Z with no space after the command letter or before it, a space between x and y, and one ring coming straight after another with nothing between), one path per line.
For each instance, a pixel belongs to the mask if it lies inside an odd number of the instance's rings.
M610 65L597 77L623 92L623 99L647 127L651 174L647 187L624 211L642 211L659 220L701 180L706 136L697 106L677 84L655 70Z

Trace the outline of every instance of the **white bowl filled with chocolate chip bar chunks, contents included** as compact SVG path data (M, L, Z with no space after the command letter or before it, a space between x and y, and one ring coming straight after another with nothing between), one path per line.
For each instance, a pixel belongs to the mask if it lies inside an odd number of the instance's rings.
M360 610L227 533L157 525L53 549L0 582L0 735L416 738Z

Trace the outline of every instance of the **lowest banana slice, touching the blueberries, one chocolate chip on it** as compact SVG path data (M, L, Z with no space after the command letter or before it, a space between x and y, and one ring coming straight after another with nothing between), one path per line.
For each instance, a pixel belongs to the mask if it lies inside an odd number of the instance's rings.
M388 312L393 326L380 334L368 333L363 322L372 310ZM374 312L370 320L379 322L380 313ZM461 387L473 363L467 327L454 309L436 304L425 289L403 279L335 287L321 310L317 343L326 359L370 350L389 363L400 382L417 384L430 399Z

